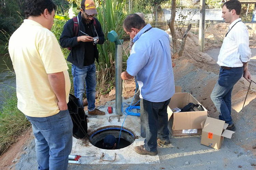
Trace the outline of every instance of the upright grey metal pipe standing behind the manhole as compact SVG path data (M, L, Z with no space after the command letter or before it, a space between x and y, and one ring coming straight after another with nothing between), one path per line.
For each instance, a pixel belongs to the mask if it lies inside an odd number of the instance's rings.
M122 79L121 79L121 73L123 68L123 48L122 43L124 40L117 40L115 41L115 72L116 72L116 115L123 115L122 112Z

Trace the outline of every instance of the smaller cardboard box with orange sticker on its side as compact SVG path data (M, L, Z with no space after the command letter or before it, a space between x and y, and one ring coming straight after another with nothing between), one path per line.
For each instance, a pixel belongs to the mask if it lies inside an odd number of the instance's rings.
M224 137L230 139L232 134L235 133L226 129L228 124L225 121L209 117L201 123L201 127L201 144L214 149L221 148Z

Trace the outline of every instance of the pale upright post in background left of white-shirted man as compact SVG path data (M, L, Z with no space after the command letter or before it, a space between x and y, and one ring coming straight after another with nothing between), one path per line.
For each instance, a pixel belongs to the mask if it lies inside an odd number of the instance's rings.
M198 46L201 52L204 52L204 26L205 26L205 0L200 0L200 22L199 22L199 40Z

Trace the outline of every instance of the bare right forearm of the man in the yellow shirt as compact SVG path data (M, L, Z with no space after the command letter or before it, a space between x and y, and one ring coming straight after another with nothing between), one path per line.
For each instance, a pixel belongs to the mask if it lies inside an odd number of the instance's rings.
M48 74L48 80L53 89L53 92L58 98L59 110L67 110L66 101L65 77L63 72Z

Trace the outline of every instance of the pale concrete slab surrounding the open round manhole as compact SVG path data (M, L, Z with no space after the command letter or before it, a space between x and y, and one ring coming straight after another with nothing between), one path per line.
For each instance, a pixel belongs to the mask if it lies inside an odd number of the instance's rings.
M124 103L131 103L131 98L124 100ZM113 113L109 114L106 110L109 106L113 107ZM127 106L124 106L124 110ZM116 149L116 150L105 150L97 148L92 145L88 139L75 139L73 138L73 146L71 155L82 155L82 156L91 156L96 155L96 157L86 157L80 158L81 164L156 164L160 163L159 156L150 156L150 155L139 155L134 151L134 147L144 144L144 139L140 137L140 117L125 115L122 117L110 117L115 116L115 103L107 102L105 106L99 108L101 111L105 111L105 115L96 115L88 117L88 132L93 132L101 127L105 126L122 126L130 129L136 136L139 136L139 139L135 139L134 142L127 146L126 148ZM134 110L136 112L136 110ZM119 119L118 119L119 118ZM110 121L109 121L110 119ZM104 157L101 160L102 153ZM104 160L114 160L116 153L115 161L104 161ZM132 155L132 156L131 156Z

